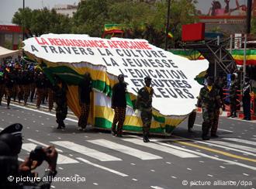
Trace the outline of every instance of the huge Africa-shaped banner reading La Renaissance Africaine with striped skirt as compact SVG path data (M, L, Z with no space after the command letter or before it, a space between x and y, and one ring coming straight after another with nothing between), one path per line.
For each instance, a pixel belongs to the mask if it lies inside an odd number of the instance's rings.
M57 74L68 84L68 105L80 115L78 83L82 75L92 75L90 122L111 128L112 86L124 74L127 85L124 129L141 131L140 115L135 115L137 91L144 77L152 78L154 88L153 132L171 132L195 108L201 85L196 75L207 70L207 60L188 60L151 45L147 40L112 38L111 40L75 34L47 34L25 40L26 54L43 66L47 77Z

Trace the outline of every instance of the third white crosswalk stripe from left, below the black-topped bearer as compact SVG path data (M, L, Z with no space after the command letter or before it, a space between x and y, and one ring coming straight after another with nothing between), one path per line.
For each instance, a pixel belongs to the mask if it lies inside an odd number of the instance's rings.
M106 140L106 139L95 139L95 140L88 140L89 143L94 143L99 146L103 146L109 149L114 149L116 151L119 151L121 153L126 153L130 156L135 156L137 158L140 158L141 160L157 160L162 159L161 156L154 155L152 153L146 153L144 151L141 151L139 149L134 149L128 146L121 145L119 143L113 143L112 141Z

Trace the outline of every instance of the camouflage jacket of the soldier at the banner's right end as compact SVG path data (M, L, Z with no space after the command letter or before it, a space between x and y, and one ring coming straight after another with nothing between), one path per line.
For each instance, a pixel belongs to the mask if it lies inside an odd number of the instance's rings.
M220 108L219 90L214 86L211 91L206 86L201 88L197 105L198 107L207 108L209 111Z

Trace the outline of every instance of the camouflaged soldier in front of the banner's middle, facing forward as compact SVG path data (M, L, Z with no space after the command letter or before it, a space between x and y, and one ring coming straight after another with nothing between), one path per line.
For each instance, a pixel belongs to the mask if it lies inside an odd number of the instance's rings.
M136 107L141 111L141 120L143 123L143 141L144 143L150 142L148 139L151 119L152 119L152 97L154 94L153 88L150 87L151 78L144 78L145 86L140 88L137 94L137 104Z

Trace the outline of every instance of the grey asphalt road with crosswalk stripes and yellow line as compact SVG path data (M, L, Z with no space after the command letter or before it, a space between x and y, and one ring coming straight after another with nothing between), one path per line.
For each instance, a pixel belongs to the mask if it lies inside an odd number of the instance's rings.
M77 130L70 112L64 130L57 130L54 112L35 105L0 106L0 129L15 122L23 125L24 160L36 145L54 144L59 152L57 177L52 188L256 188L256 122L220 118L219 138L202 141L202 115L194 132L187 121L170 137L140 135L113 137L88 127ZM46 163L37 170L43 174ZM70 180L68 180L70 179Z

